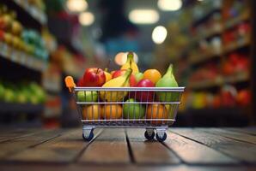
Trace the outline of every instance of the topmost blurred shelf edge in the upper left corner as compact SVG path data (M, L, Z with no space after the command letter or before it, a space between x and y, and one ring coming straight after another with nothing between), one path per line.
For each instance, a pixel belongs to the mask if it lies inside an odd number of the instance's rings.
M16 3L18 6L20 6L22 9L24 9L36 21L40 22L40 25L46 25L47 17L46 17L46 14L43 11L41 11L40 9L37 9L36 7L28 4L27 1L24 1L24 0L12 0L12 1L14 3Z

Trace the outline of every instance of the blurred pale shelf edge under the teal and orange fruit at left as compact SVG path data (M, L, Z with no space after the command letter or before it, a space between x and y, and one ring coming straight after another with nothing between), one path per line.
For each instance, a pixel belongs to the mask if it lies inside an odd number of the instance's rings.
M20 50L15 50L8 44L0 42L0 49L0 56L9 60L10 62L15 62L16 64L40 72L46 69L46 62L43 62L42 60L37 59L34 56L27 55Z

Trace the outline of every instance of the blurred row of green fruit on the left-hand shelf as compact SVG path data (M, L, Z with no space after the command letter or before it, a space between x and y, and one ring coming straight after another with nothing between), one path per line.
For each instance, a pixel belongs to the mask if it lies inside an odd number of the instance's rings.
M0 80L0 101L5 103L44 103L46 93L34 82L13 84Z

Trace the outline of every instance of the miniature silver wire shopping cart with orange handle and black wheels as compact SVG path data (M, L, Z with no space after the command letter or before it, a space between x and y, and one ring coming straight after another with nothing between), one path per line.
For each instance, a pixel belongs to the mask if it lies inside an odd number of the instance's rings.
M96 127L146 128L146 139L155 137L158 141L164 141L167 139L166 130L175 121L180 97L185 89L80 87L70 76L65 78L65 83L76 99L77 111L82 115L82 138L87 141L94 138Z

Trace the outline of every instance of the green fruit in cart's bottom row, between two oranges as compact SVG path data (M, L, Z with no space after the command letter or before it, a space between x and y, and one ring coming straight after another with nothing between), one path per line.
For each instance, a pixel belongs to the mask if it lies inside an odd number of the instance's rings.
M134 98L130 98L124 104L124 117L126 119L141 119L145 115L145 108L142 104L134 103L136 102ZM132 102L133 104L129 104Z

